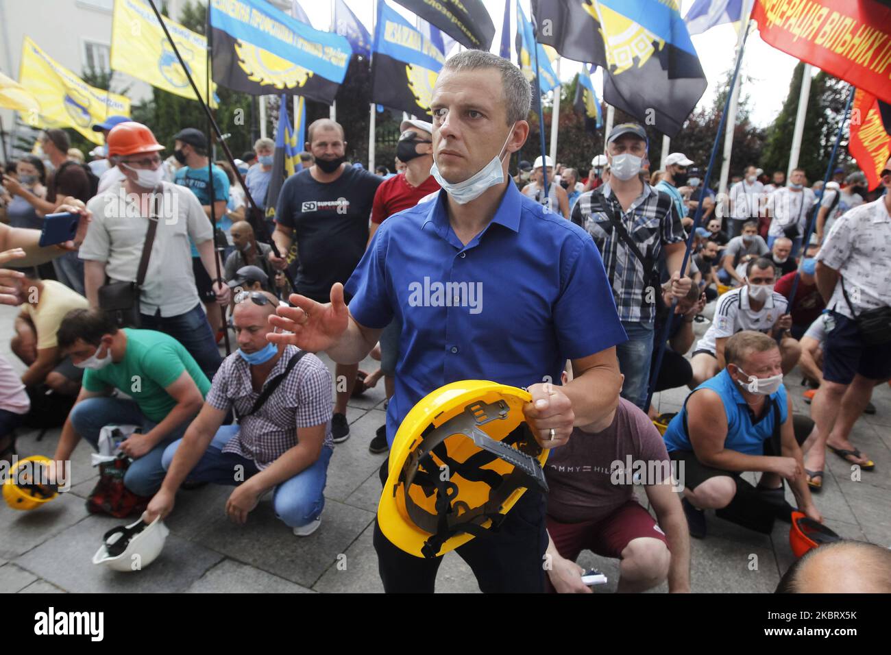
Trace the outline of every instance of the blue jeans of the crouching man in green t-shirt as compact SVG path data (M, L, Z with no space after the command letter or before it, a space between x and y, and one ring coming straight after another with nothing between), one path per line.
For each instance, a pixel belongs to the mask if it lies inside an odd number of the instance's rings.
M74 431L94 448L99 444L99 430L106 425L139 425L143 434L158 425L149 421L133 400L124 398L86 398L74 405L69 418ZM185 421L177 426L157 446L130 463L130 468L124 474L124 486L136 495L154 495L164 481L161 455L167 446L183 437L190 422Z

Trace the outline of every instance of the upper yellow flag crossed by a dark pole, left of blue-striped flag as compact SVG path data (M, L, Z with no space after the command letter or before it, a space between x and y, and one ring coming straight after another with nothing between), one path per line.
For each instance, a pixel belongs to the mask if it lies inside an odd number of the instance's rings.
M173 20L165 18L164 23L206 102L207 38ZM115 0L111 18L111 70L119 70L171 94L195 100L189 78L185 77L158 18L144 0ZM216 88L211 81L211 107L217 106L213 101Z

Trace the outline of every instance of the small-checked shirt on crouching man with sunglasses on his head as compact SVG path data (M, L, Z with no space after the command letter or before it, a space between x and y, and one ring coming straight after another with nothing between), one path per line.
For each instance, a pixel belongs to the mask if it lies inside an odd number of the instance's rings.
M283 373L291 356L298 349L285 348L279 361L269 372L266 384ZM261 389L262 390L262 389ZM243 416L254 406L260 392L250 381L250 365L234 352L223 360L208 391L208 405L228 412L232 405ZM331 439L331 373L322 360L312 354L303 356L288 377L257 412L245 416L240 430L223 446L224 453L240 454L257 464L261 471L286 451L297 446L297 429L320 423L325 427L324 445L334 447Z

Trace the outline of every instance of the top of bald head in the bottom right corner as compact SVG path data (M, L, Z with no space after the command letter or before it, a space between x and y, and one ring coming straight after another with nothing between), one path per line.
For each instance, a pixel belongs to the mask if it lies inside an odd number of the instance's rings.
M824 544L796 561L777 594L891 594L891 551L862 541Z

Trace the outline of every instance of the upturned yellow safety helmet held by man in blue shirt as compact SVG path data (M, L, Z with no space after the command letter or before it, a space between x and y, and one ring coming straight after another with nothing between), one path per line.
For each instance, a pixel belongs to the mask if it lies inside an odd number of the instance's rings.
M378 524L405 553L436 557L497 529L528 487L547 491L548 452L523 414L532 397L497 382L446 384L396 432Z

